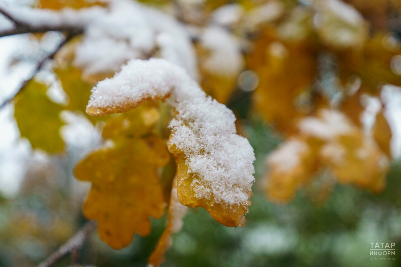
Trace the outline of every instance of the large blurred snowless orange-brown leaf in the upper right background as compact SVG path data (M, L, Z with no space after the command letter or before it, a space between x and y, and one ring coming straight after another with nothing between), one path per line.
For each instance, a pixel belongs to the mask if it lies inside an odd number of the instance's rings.
M253 93L255 108L281 131L291 132L295 120L304 115L296 99L314 81L314 58L306 42L280 42L271 30L265 30L247 56L247 65L259 76Z

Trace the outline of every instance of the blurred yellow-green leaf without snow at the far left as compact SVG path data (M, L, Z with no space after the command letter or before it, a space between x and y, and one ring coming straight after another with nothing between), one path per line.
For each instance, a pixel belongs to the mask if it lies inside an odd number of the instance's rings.
M15 98L14 117L21 137L28 138L32 148L61 152L64 142L59 130L64 122L59 114L63 106L52 102L46 91L46 85L35 80L28 82Z

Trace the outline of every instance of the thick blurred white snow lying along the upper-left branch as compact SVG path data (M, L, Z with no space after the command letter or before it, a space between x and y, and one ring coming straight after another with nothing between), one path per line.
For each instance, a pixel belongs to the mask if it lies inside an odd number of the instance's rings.
M157 53L197 77L190 36L172 16L131 0L106 2L105 8L59 11L0 3L0 12L14 22L0 29L0 37L47 31L84 33L74 64L85 76L115 73L130 59L147 59Z

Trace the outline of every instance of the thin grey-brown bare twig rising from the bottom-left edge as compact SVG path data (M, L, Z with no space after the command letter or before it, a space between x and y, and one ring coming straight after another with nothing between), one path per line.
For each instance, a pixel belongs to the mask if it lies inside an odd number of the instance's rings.
M36 267L49 267L56 263L59 259L73 251L74 249L81 249L83 243L88 237L89 233L96 227L95 221L86 223L81 229L75 233L64 245L61 245L57 251L53 252L45 261L42 261Z

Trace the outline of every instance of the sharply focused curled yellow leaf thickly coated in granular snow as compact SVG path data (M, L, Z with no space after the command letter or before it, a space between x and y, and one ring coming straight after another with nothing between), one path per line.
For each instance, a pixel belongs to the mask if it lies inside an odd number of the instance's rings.
M166 99L174 108L168 147L178 164L178 199L202 206L223 225L245 223L255 155L236 134L235 115L207 97L180 67L164 59L132 60L92 90L87 113L106 115Z

